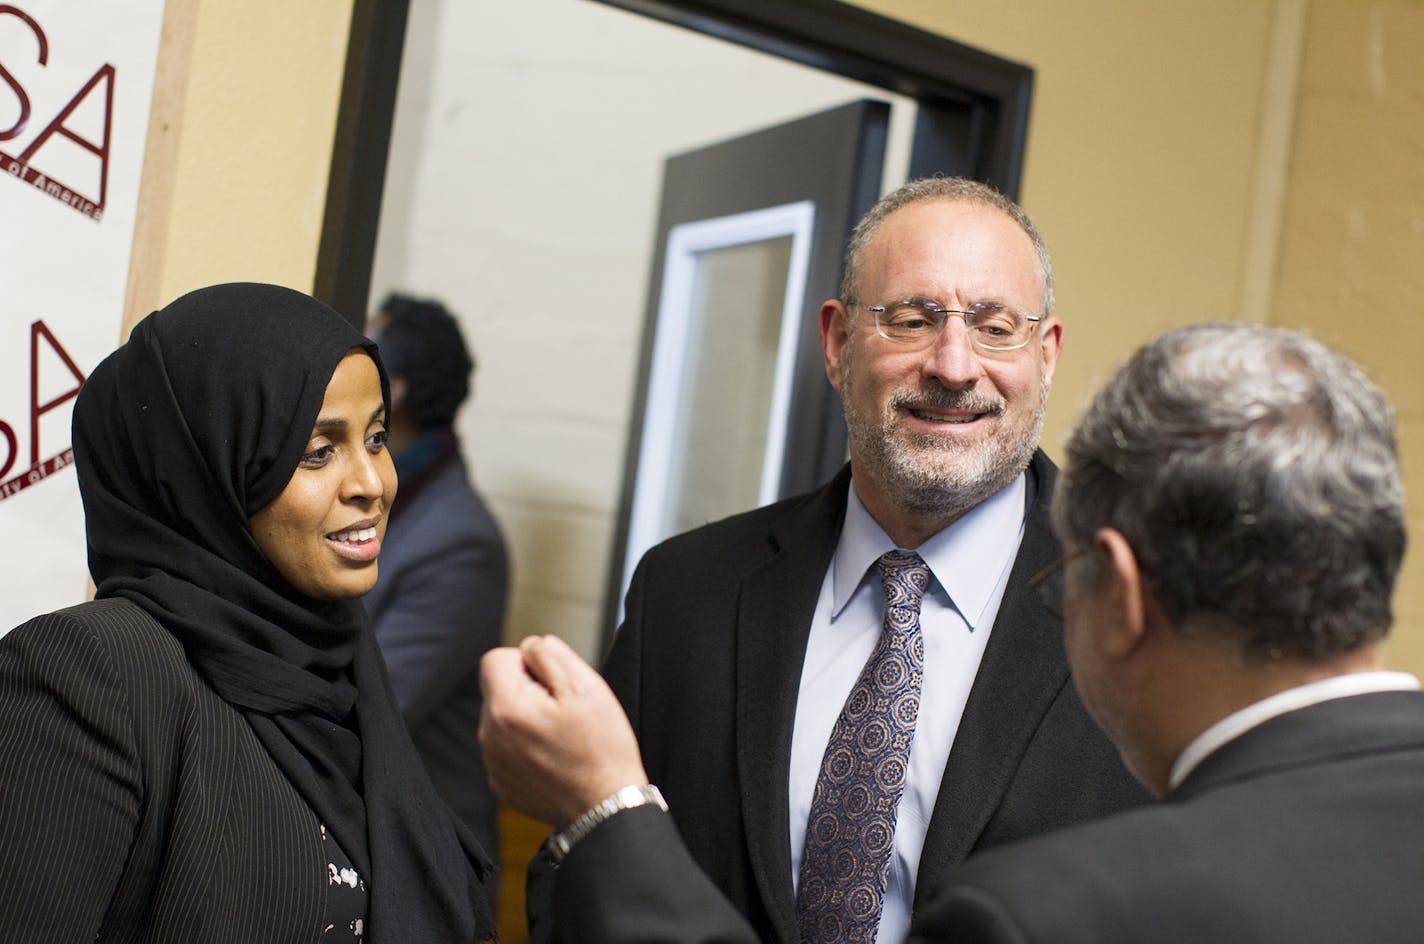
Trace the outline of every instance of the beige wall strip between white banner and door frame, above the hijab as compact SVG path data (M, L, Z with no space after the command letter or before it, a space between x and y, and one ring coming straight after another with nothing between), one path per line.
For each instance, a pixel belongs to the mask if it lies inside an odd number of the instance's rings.
M312 290L352 0L168 0L124 333L215 282Z

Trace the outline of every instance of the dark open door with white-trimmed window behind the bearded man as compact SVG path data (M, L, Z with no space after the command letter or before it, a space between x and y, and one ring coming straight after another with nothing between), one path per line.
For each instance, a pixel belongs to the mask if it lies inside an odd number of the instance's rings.
M604 648L621 621L627 581L637 558L656 542L646 540L648 530L642 527L645 501L652 497L648 491L659 491L655 481L666 473L668 463L658 461L656 451L649 456L649 444L659 431L668 436L675 429L661 416L672 403L666 387L681 372L668 355L685 352L682 332L688 327L668 325L664 319L674 235L688 225L722 228L728 219L746 216L749 211L765 214L806 206L806 268L799 276L800 285L787 282L787 293L796 293L795 310L783 306L780 315L778 362L780 379L787 386L780 414L785 423L780 430L769 423L766 431L768 440L783 437L768 450L779 450L786 461L778 463L775 481L763 480L770 493L763 493L758 504L810 491L846 461L846 424L840 397L826 382L817 313L822 300L839 289L844 245L856 221L880 195L889 122L889 103L862 98L746 130L735 138L703 144L664 161L648 310L604 594ZM787 151L800 159L778 159ZM755 178L739 172L749 168L765 168L765 172ZM735 195L723 194L716 187L703 187L709 179L735 179L739 185L731 188ZM665 537L671 534L659 534L658 541Z

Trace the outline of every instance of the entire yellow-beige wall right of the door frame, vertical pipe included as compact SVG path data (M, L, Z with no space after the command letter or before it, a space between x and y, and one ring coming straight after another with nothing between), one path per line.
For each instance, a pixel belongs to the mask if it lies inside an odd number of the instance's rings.
M1068 326L1049 453L1156 332L1218 318L1303 327L1393 397L1418 544L1424 4L857 1L1037 71L1022 198ZM1366 318L1368 337L1354 330ZM1418 551L1388 656L1424 675Z

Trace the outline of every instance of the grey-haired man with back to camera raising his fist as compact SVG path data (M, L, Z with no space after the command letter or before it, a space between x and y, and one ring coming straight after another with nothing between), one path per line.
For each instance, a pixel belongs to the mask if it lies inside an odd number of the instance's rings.
M1417 941L1424 695L1378 654L1405 544L1383 393L1296 332L1171 332L1078 423L1054 521L1075 685L1163 802L975 854L909 940ZM483 676L491 777L527 812L577 834L646 783L560 641ZM584 833L555 893L567 940L758 940L646 804Z

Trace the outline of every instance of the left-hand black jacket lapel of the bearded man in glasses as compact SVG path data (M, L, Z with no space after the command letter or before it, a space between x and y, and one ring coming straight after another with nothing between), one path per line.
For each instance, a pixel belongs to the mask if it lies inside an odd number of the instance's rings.
M776 933L796 940L787 820L792 726L806 638L846 514L849 468L772 525L772 557L742 581L736 762L746 847Z

